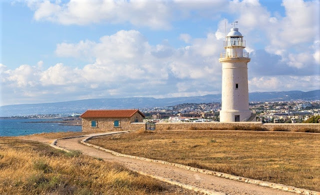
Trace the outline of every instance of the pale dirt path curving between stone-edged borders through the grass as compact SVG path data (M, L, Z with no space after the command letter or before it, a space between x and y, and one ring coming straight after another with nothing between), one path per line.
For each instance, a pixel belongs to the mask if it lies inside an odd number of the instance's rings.
M208 191L219 192L225 195L295 195L294 193L218 178L202 173L195 173L172 166L113 156L110 153L79 143L80 140L84 138L85 137L58 140L57 146L68 150L80 150L84 155L101 158L106 161L114 161L124 165L132 171L168 178L172 181L177 181L200 189L206 189Z

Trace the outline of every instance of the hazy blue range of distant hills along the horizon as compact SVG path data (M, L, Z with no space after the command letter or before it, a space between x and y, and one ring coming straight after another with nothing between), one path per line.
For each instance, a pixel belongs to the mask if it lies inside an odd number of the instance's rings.
M249 101L320 100L320 90L252 92ZM83 113L87 109L130 109L173 106L182 103L220 102L221 94L176 98L100 98L68 102L0 106L0 117L31 114Z

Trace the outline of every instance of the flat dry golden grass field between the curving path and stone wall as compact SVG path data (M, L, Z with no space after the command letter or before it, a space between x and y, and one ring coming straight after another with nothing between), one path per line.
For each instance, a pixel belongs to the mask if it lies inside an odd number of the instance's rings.
M320 191L320 134L145 131L89 142L123 154Z

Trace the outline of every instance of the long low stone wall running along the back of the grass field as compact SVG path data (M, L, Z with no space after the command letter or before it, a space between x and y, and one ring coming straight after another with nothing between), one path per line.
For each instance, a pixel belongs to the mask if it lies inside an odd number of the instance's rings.
M233 123L156 123L156 130L253 130L253 131L302 131L319 132L320 124L262 124L260 122Z

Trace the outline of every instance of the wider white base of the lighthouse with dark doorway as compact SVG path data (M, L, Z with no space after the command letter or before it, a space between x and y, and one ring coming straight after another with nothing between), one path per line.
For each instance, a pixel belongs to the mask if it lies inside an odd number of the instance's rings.
M243 120L249 118L251 112L249 110L228 110L220 111L220 122L242 122Z

